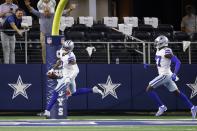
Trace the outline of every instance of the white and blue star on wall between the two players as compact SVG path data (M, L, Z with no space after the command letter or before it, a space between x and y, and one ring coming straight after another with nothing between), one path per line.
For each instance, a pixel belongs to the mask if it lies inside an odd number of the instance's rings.
M116 88L118 88L121 84L114 84L112 83L111 77L108 76L107 78L107 82L104 84L98 84L101 88L104 89L104 95L102 96L102 98L105 98L106 96L108 96L109 94L112 95L113 97L115 97L116 99L118 99L118 96L116 94Z

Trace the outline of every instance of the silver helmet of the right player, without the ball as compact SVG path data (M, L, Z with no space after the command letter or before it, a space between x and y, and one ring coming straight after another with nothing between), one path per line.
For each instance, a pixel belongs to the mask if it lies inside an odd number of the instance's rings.
M160 35L155 39L154 47L159 49L164 46L168 46L168 38L164 35Z

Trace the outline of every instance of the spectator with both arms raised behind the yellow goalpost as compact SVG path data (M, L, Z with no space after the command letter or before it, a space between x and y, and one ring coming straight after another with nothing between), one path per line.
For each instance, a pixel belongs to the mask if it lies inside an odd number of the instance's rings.
M54 13L51 13L50 7L48 6L45 6L43 10L44 12L41 13L35 10L30 4L31 3L29 0L25 0L25 5L29 9L29 11L40 19L40 43L42 46L42 60L43 63L45 64L46 63L45 36L51 35ZM63 14L70 13L70 11L72 11L75 7L76 6L74 4L71 5L69 9L64 10Z

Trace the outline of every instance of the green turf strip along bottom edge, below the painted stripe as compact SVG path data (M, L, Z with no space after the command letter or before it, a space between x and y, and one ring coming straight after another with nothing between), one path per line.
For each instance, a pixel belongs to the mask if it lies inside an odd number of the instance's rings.
M196 131L197 126L1 127L0 131Z

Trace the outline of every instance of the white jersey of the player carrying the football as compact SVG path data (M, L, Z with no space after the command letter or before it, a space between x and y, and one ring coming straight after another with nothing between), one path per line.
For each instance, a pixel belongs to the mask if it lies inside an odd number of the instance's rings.
M60 56L62 61L62 74L64 77L70 77L70 74L73 72L73 65L70 64L71 62L76 61L76 56L73 52L69 52L68 54Z

